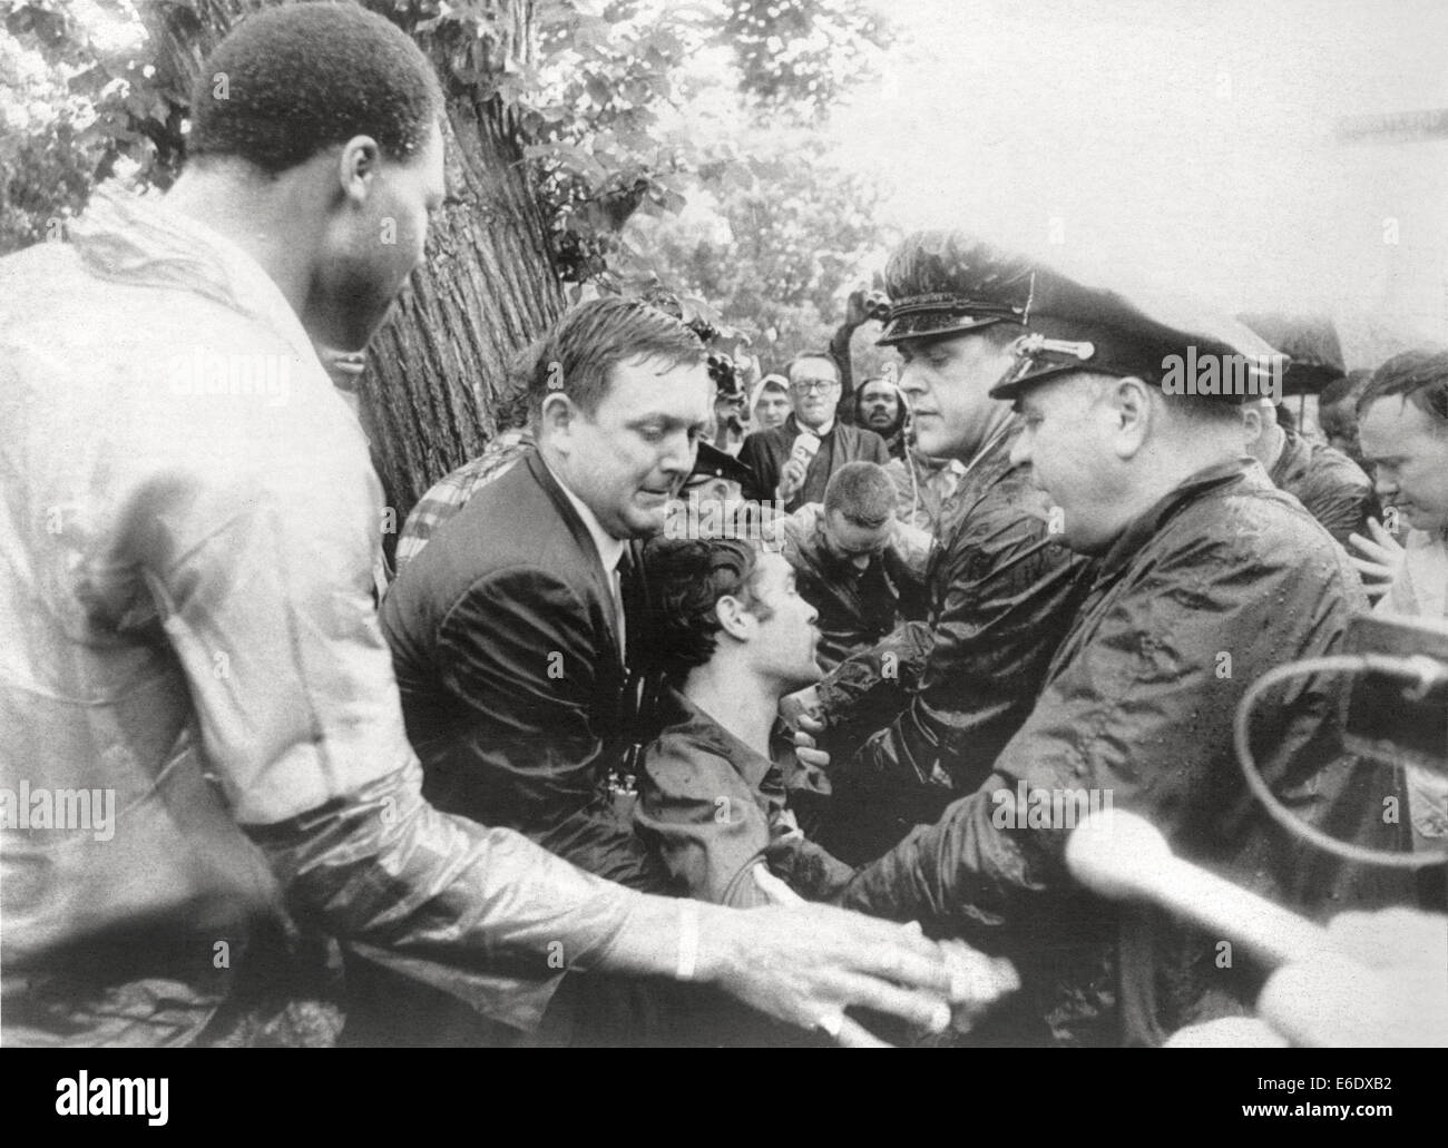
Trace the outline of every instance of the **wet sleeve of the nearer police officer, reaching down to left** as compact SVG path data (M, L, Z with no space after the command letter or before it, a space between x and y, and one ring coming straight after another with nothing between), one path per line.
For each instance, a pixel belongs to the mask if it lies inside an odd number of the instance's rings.
M1244 786L1224 767L1237 704L1284 651L1306 656L1332 633L1321 614L1337 608L1313 599L1322 588L1295 566L1242 579L1241 560L1213 563L1211 553L1163 562L1051 680L985 785L862 870L843 903L954 925L1030 912L1070 886L1066 838L1090 808L1138 812L1197 848L1229 840L1225 827L1244 815ZM1254 741L1273 747L1267 776L1299 806L1325 801L1313 775L1319 737L1332 741L1331 689L1303 679L1283 691L1271 724L1254 728ZM1297 756L1299 775L1284 779Z

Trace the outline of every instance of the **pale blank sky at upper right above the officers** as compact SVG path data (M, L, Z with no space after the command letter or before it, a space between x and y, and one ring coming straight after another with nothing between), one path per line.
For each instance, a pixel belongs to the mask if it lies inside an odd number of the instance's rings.
M1334 317L1352 359L1448 342L1448 142L1342 117L1448 110L1444 0L893 0L837 109L885 219L1089 281ZM1364 363L1367 365L1367 363Z

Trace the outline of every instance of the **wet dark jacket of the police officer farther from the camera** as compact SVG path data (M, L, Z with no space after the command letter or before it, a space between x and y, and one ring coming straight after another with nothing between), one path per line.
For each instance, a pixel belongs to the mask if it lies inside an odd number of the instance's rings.
M1050 499L1011 466L1012 424L944 511L927 573L928 624L911 624L820 683L831 724L880 730L833 782L976 788L1031 712L1089 583L1051 531ZM891 670L886 672L886 659Z

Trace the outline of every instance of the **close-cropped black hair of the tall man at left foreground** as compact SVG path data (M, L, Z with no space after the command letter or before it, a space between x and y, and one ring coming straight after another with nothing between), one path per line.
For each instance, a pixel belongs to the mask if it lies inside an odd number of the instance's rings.
M353 4L288 4L248 16L201 67L187 153L279 175L372 136L407 162L442 111L437 74L400 28Z

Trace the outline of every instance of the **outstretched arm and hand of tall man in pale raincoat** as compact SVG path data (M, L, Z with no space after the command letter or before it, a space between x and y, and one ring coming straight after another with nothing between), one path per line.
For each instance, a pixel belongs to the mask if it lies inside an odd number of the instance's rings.
M220 463L195 482L168 476L129 540L216 782L294 911L514 1024L539 1016L556 955L678 976L675 902L421 801L368 594L375 515L337 497L356 484L319 484L314 462L295 463L310 498L269 485L277 475L222 482ZM701 909L694 979L791 1024L863 1005L924 1025L948 990L940 951L885 922Z

